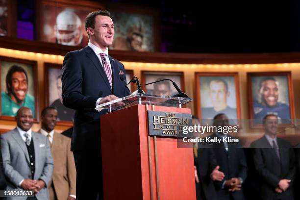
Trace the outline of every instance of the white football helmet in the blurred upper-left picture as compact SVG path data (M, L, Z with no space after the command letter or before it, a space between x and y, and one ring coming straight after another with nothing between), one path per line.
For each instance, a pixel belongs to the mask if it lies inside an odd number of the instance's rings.
M82 41L81 21L73 9L65 9L57 15L54 31L58 44L77 46Z

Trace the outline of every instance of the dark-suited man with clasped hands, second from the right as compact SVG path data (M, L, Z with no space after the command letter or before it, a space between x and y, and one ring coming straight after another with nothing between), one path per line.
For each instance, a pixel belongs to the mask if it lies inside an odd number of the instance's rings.
M234 137L225 134L225 131L219 131L219 127L224 128L229 125L225 114L216 115L213 125L218 127L217 131L209 137L221 140L210 145L213 148L217 165L220 166L219 170L225 174L222 181L214 182L218 200L244 200L242 183L247 177L244 150L239 142L227 142L228 138L235 139Z

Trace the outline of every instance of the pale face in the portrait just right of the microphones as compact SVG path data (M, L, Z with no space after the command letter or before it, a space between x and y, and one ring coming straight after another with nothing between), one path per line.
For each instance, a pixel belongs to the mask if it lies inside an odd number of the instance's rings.
M227 98L229 92L226 90L226 86L221 81L211 81L209 84L209 96L214 107L227 107Z

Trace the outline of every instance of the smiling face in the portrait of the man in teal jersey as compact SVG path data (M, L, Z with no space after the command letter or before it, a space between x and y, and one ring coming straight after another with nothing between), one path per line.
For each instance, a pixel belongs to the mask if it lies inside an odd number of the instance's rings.
M28 90L28 82L26 75L23 72L15 72L12 75L11 80L11 99L19 104L25 100L25 96Z

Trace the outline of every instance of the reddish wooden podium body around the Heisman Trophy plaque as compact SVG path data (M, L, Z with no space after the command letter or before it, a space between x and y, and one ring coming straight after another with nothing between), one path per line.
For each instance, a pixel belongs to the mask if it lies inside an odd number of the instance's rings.
M193 149L149 136L147 110L191 112L134 105L101 116L104 200L196 200Z

